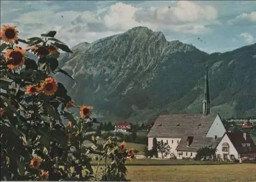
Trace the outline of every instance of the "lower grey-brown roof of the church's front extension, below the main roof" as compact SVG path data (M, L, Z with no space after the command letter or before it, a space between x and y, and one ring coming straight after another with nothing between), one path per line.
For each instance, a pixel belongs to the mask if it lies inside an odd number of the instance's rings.
M198 149L202 147L212 147L216 148L221 138L217 138L216 140L213 138L204 138L200 136L194 136L194 140L190 146L187 144L187 135L184 135L177 146L177 151L193 151L196 152Z

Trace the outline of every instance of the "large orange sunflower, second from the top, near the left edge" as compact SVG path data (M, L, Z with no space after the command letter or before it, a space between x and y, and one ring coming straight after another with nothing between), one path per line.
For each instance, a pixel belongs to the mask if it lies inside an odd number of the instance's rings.
M14 70L18 67L20 67L24 61L25 61L25 56L26 55L26 50L19 48L19 47L15 47L14 50L12 49L8 49L5 52L5 58L6 58L6 62L8 63L8 67L11 70Z

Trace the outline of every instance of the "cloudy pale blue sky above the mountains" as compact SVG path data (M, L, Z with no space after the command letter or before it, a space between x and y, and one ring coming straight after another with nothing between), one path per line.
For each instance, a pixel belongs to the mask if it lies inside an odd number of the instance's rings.
M1 1L0 12L20 38L56 30L69 47L137 26L207 53L256 42L256 1Z

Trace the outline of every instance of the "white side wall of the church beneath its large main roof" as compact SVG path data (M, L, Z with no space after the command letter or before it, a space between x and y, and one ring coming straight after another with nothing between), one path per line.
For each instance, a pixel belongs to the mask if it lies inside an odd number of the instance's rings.
M174 153L177 156L176 147L179 145L178 141L180 142L180 138L156 138L157 141L163 140L165 143L168 141L168 145L170 146L170 153ZM148 150L151 150L153 147L153 137L148 137ZM161 157L161 153L158 153L158 156ZM169 158L168 155L166 158Z

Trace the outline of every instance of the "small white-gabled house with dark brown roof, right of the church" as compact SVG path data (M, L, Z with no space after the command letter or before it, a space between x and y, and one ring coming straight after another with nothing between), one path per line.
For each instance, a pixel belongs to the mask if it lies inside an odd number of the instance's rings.
M247 132L226 132L216 147L219 160L256 157L256 146Z

